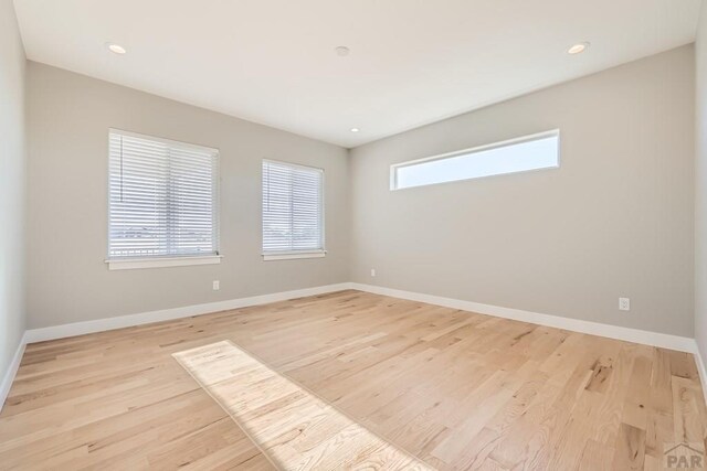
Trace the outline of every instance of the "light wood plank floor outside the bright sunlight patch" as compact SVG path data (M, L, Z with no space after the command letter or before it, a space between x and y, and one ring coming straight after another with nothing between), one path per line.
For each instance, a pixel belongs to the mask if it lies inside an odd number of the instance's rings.
M653 470L707 437L689 354L341 291L28 345L0 469L271 469L171 356L222 340L442 470Z

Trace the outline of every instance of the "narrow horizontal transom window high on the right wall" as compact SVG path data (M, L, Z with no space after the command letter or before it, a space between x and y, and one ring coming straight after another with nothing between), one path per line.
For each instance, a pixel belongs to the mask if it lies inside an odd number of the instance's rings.
M502 175L560 165L560 131L525 136L488 146L445 153L390 169L391 190L482 176Z

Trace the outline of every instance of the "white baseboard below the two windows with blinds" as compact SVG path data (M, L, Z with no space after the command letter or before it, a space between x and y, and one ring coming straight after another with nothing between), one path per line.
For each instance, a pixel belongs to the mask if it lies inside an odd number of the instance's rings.
M207 302L204 304L184 306L181 308L162 309L159 311L141 312L138 314L119 315L116 318L97 319L95 321L75 322L72 324L53 325L43 329L28 330L27 343L43 342L46 340L64 339L67 336L83 335L86 333L103 332L114 329L123 329L152 322L169 321L173 319L190 318L192 315L208 314L211 312L228 311L249 306L267 304L270 302L286 301L288 299L304 298L307 296L324 295L327 292L349 289L349 283L327 285L315 288L282 291L272 295L252 296L249 298L230 299L226 301Z

